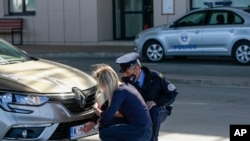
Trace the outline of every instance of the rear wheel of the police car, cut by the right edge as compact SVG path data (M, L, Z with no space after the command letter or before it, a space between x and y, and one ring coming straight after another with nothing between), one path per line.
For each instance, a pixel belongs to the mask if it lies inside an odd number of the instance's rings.
M246 65L250 63L250 42L242 41L235 45L234 48L234 58L235 60Z

